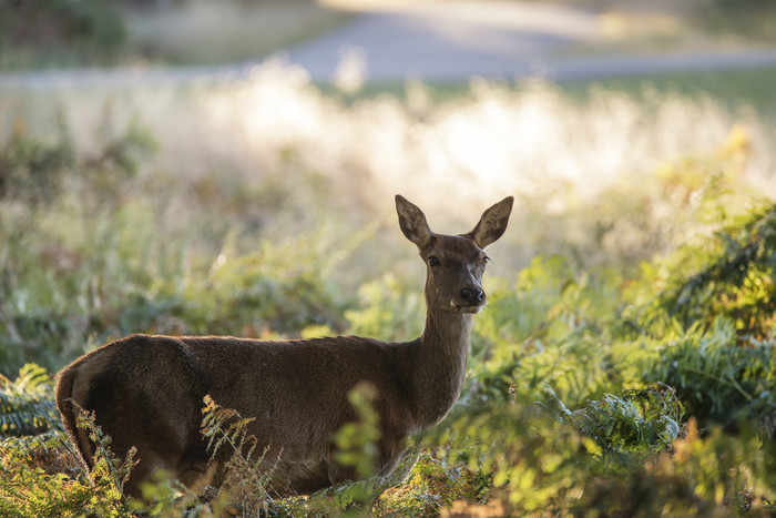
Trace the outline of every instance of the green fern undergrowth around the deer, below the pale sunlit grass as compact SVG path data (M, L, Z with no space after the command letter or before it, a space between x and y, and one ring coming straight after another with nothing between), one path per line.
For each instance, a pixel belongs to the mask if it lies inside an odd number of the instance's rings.
M206 400L203 437L224 484L187 489L160 474L126 499L133 457L115 458L85 415L98 446L86 473L51 373L132 332L411 339L420 273L394 246L392 215L325 221L331 187L293 150L277 176L191 177L175 187L182 203L169 195L177 176L150 165L156 144L137 120L122 128L106 114L88 152L68 125L42 138L17 124L1 142L3 516L776 512L776 210L742 173L753 151L741 129L708 156L598 200L569 187L563 211L537 212L559 233L530 242L544 253L517 274L489 274L460 400L408 441L389 479L374 476L368 390L351 394L359 418L331 437L361 480L312 497L274 491L266 445L246 433L255 416ZM506 236L494 265L523 253L514 243L529 241ZM367 260L390 273L364 274ZM359 282L338 281L356 270Z

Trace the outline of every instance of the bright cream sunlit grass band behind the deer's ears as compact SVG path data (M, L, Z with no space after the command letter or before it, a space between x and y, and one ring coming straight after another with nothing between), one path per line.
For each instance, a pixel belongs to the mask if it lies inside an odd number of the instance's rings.
M254 221L261 235L279 238L337 214L344 233L372 221L385 235L377 238L394 243L395 193L422 203L440 232L468 230L479 209L513 194L503 272L589 240L595 225L620 228L620 237L602 237L613 246L639 243L646 231L633 222L642 217L654 232L677 226L675 211L692 206L655 191L654 173L719 153L734 129L751 149L735 190L774 194L767 113L697 91L627 84L561 89L476 80L440 94L411 82L401 95L353 98L324 92L303 70L275 62L222 87L13 93L4 98L2 119L7 132L21 121L50 134L54 113L62 112L86 152L98 145L100 128L134 120L159 148L140 164L135 195L163 203L171 216L162 228L210 213ZM661 246L671 246L664 237ZM634 250L632 257L658 251ZM364 275L360 282L395 264L392 256L374 255L363 274L348 274Z

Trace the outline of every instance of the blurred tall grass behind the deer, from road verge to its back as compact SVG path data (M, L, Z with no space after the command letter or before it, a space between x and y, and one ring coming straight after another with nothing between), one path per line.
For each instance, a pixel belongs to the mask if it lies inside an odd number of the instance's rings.
M245 297L248 312L262 304L255 278L219 273L234 268L263 265L268 286L289 283L277 293L314 275L330 293L333 311L309 301L308 317L289 319L278 302L255 326L341 329L335 315L355 303L343 293L388 271L399 284L422 274L395 230L397 192L440 232L466 231L482 206L515 195L498 276L538 254L633 271L704 231L709 191L728 214L776 185L768 120L652 90L593 89L581 101L548 83L473 81L457 97L409 83L402 99L353 99L276 62L222 87L7 91L0 108L4 161L16 167L6 182L28 181L0 206L13 272L3 307L23 321L10 336L39 321L30 329L51 337L52 367L130 331L229 332L236 322L231 333L245 331L247 314L214 311ZM292 256L287 271L268 266ZM306 271L323 257L325 271ZM54 345L65 329L74 334ZM39 347L14 348L8 375L28 348Z

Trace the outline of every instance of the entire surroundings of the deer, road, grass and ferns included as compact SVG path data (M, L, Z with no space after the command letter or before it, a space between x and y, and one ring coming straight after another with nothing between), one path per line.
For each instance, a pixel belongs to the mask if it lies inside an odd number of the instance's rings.
M137 510L55 431L101 344L416 338L400 193L440 233L515 204L374 516L773 516L775 93L774 0L0 0L0 515Z

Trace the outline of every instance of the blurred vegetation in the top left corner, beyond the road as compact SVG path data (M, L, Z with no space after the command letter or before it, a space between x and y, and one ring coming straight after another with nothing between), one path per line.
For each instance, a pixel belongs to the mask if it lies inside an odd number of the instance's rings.
M0 70L256 60L348 18L313 0L1 0Z

